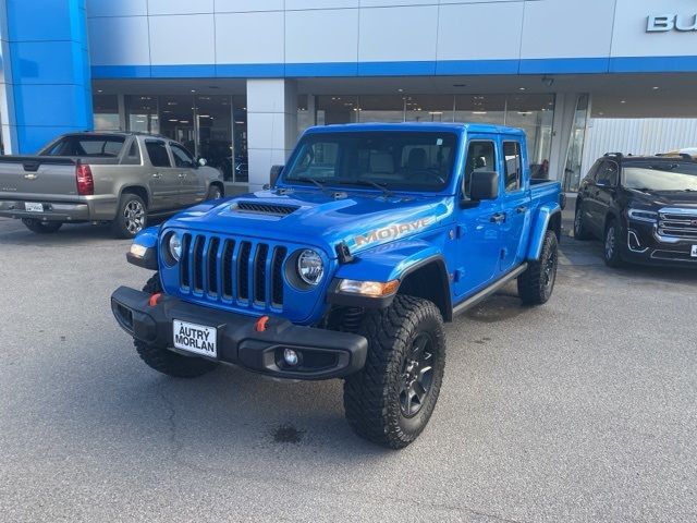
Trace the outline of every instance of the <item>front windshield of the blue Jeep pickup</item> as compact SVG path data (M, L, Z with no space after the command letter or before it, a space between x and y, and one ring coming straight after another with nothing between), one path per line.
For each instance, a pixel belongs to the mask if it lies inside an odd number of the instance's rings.
M283 181L441 191L453 171L456 144L457 136L448 132L309 134L301 139Z

